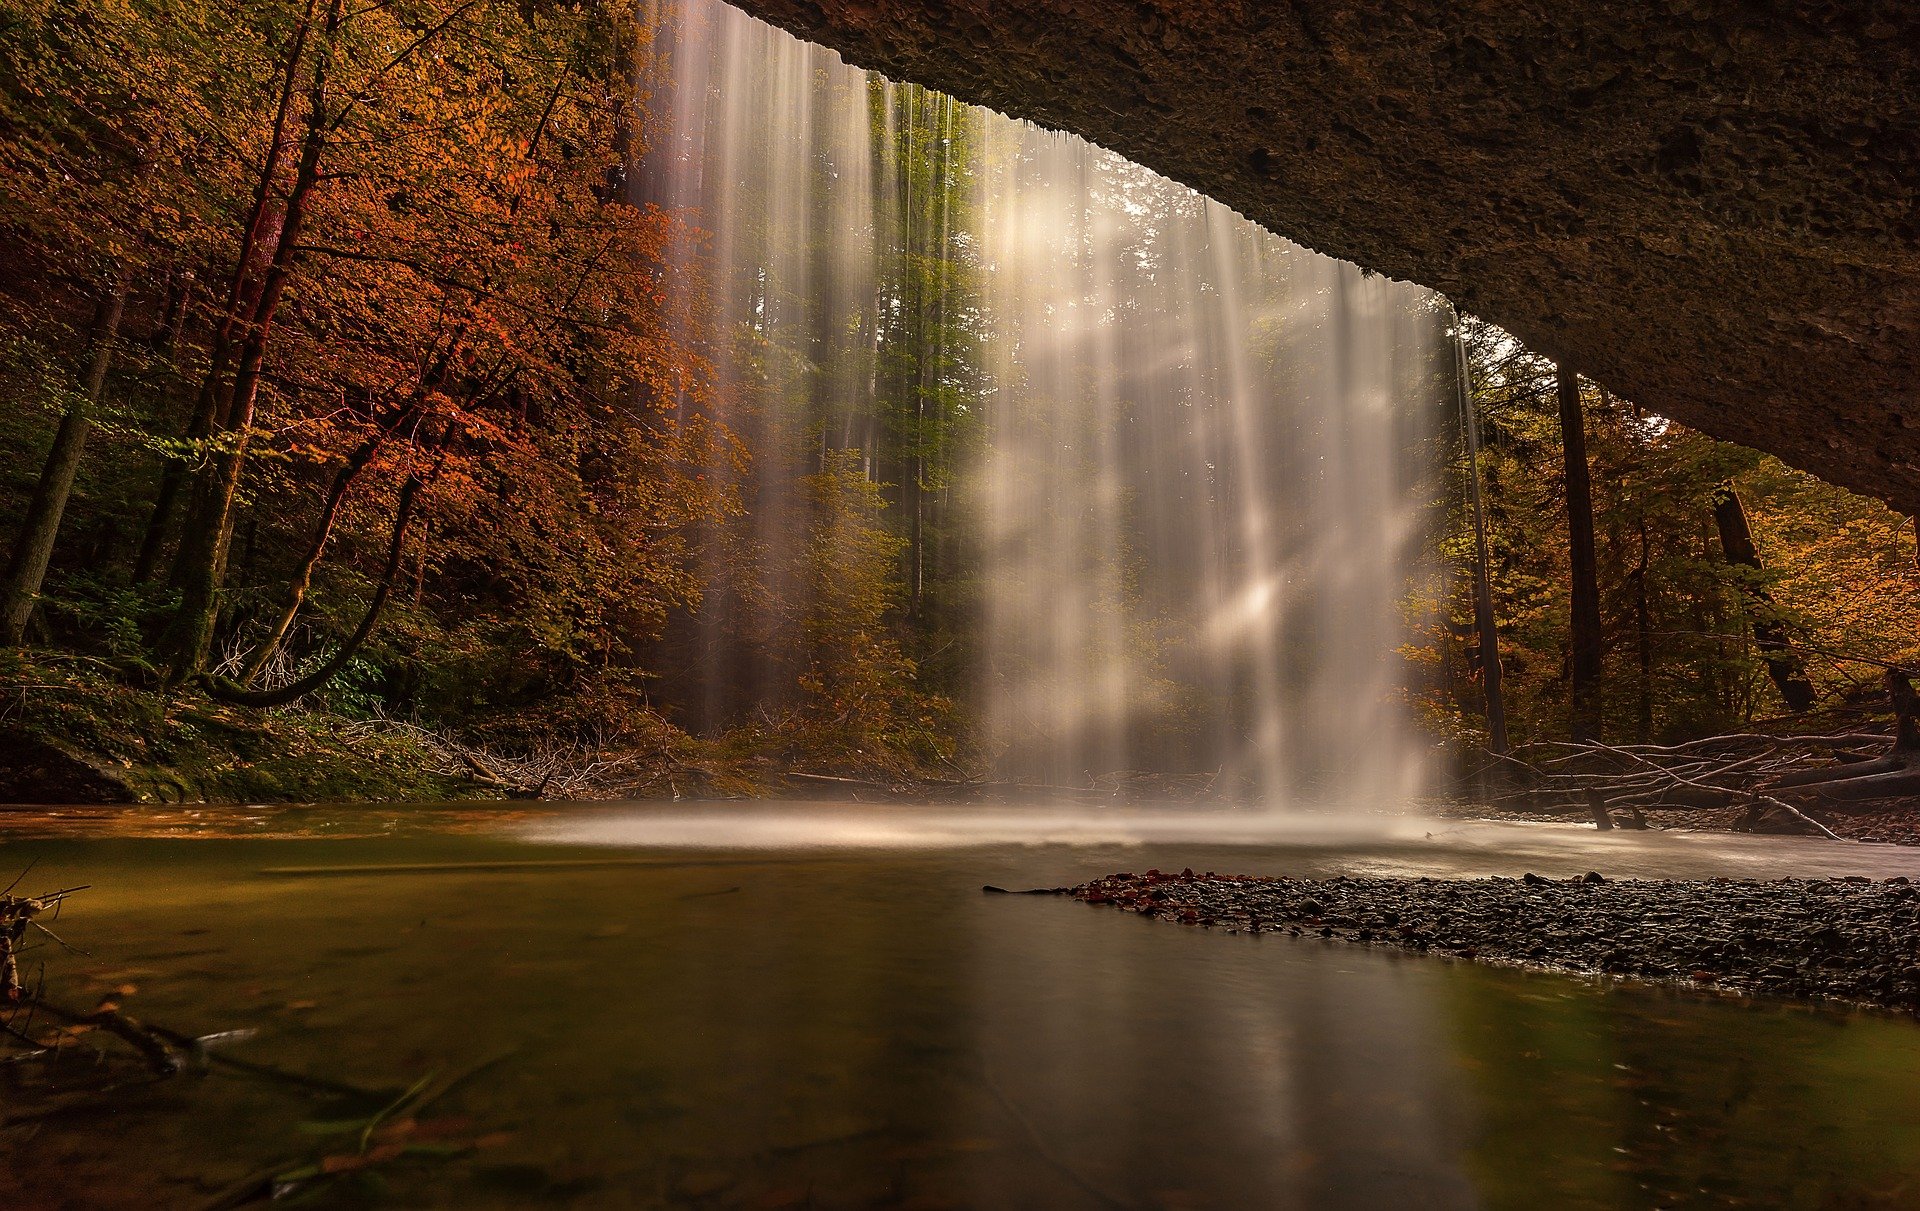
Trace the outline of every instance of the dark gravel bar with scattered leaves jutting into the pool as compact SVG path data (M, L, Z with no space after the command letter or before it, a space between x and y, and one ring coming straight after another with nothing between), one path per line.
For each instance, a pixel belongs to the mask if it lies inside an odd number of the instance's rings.
M1920 887L1905 877L1260 879L1152 869L1071 894L1229 933L1920 1011Z

